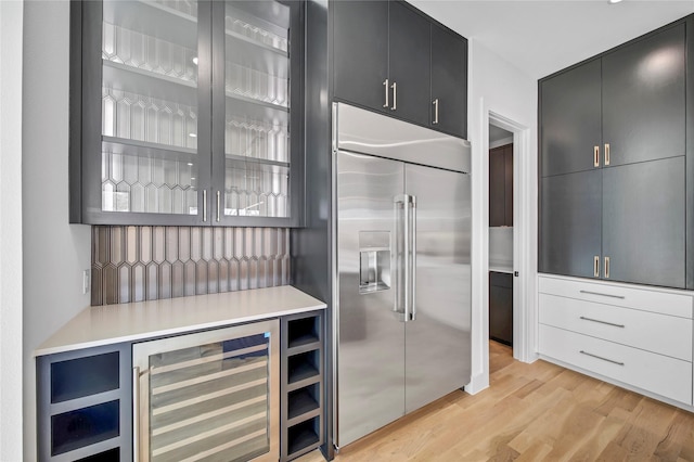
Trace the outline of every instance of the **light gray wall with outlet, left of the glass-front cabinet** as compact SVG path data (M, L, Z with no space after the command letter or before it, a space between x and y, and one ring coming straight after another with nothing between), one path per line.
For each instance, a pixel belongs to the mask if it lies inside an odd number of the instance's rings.
M33 351L89 306L90 227L68 224L69 3L24 4L24 460L36 459ZM100 153L91 153L100 155Z

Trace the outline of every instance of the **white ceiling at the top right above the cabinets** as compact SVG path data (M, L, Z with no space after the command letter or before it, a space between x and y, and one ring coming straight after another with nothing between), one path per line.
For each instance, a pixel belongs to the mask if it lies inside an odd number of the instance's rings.
M694 13L694 0L408 0L541 78Z

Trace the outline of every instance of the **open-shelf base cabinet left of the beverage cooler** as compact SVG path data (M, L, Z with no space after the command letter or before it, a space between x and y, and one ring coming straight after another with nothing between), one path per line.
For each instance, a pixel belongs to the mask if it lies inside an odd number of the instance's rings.
M132 454L130 344L37 358L41 461L121 461Z

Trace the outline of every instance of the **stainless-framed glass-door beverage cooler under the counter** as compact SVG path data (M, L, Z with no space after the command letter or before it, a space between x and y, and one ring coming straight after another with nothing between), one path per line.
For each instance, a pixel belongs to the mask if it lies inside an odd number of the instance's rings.
M136 461L279 459L279 321L132 347Z

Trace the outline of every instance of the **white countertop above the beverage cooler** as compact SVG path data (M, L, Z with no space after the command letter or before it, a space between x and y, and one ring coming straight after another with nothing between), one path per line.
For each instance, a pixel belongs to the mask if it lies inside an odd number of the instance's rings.
M323 301L291 285L89 307L43 342L34 355L137 342L325 307Z

